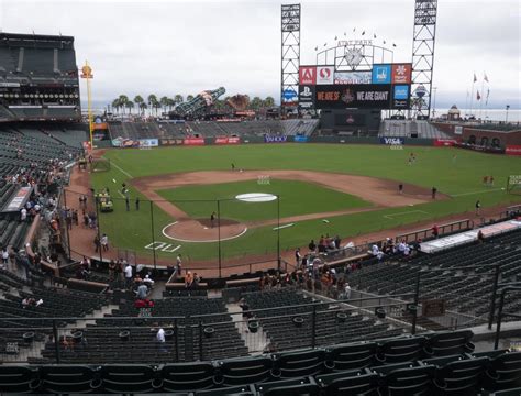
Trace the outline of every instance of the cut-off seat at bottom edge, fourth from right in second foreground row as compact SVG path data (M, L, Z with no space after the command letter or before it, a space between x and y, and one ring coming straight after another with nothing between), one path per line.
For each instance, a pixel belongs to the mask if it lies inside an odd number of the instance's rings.
M317 383L325 396L379 396L378 374L369 370L351 370L332 374L318 375Z

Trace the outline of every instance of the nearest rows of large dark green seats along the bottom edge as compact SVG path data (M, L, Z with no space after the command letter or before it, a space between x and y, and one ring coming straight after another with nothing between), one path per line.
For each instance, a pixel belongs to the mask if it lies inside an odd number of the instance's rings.
M459 338L458 332L441 337ZM411 345L419 353L378 361L389 340L341 344L193 363L0 365L4 393L168 393L173 395L519 395L521 352L474 353L453 348L437 355L431 339ZM350 349L356 353L351 354ZM340 353L337 353L340 351ZM396 356L399 356L397 348ZM359 359L362 354L367 359ZM342 364L333 362L341 356Z

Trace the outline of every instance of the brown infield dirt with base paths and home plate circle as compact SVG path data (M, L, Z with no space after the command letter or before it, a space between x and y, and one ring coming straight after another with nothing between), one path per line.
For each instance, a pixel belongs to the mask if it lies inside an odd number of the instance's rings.
M213 222L210 219L192 219L175 204L165 200L157 190L171 189L187 185L209 185L233 182L246 182L257 179L259 176L269 175L277 179L302 180L320 185L336 191L357 196L373 206L368 208L353 208L340 211L309 213L292 216L287 218L269 219L263 221L252 221L240 223L230 219L220 219ZM346 174L335 174L314 170L207 170L189 172L179 174L168 174L158 176L145 176L131 179L129 182L146 198L154 200L166 213L174 217L177 221L164 228L163 233L169 239L182 242L214 242L219 238L230 240L243 235L248 229L257 227L273 226L280 222L297 223L303 220L324 219L328 217L356 213L363 211L378 210L383 208L414 206L432 201L431 190L411 184L403 183L403 194L398 191L398 182L383 178L355 176ZM244 191L250 193L250 191ZM436 200L447 199L448 197L437 193ZM210 213L209 213L210 215Z

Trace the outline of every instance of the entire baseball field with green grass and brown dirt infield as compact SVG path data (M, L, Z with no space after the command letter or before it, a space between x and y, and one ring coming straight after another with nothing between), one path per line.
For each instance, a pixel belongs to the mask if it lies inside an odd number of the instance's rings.
M109 150L103 156L110 170L90 176L114 201L113 212L100 213L101 232L119 249L166 260L182 253L212 261L219 249L223 258L275 255L278 242L282 252L326 233L347 242L455 213L475 219L477 200L483 208L521 202L505 190L508 176L521 174L519 158L451 147L296 143ZM486 175L494 186L483 184ZM236 199L259 193L271 200Z

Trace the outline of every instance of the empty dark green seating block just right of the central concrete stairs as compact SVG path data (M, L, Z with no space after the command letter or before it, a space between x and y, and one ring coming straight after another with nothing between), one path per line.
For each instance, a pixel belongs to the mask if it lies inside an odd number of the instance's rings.
M274 292L254 292L244 295L251 309L274 308L269 311L255 312L264 331L278 350L295 349L302 343L312 344L312 321L315 321L315 344L328 345L334 342L351 342L369 340L381 337L392 337L403 333L403 330L387 322L376 322L368 315L361 312L343 312L339 307L318 306L313 319L313 307L288 307L313 302L311 298L291 289ZM276 309L282 307L280 309ZM286 307L286 308L284 308ZM337 319L339 312L345 314L342 321ZM293 322L295 317L302 318L301 326ZM298 319L297 319L298 320Z

